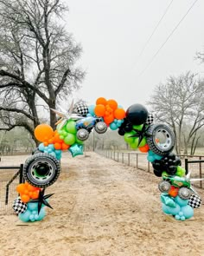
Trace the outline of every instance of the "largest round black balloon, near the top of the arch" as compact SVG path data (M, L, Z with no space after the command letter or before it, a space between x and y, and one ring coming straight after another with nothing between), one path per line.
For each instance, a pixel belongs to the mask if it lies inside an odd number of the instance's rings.
M126 111L126 118L133 125L143 124L148 117L147 108L143 107L141 104L133 104Z

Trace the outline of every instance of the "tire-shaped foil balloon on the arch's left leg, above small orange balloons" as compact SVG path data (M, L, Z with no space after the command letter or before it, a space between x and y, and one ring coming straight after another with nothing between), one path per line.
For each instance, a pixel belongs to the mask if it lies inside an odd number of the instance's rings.
M34 187L49 187L58 179L60 173L60 162L51 154L40 153L25 161L22 174Z

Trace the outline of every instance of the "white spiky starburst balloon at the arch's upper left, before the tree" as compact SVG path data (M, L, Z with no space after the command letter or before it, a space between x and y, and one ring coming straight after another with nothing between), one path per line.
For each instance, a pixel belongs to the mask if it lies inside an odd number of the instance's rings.
M66 110L64 110L64 109L63 109L63 112L60 112L54 108L50 108L50 109L53 110L54 113L56 113L57 115L61 116L61 119L55 123L55 125L61 123L60 129L63 128L63 126L66 124L66 122L69 121L70 119L72 119L73 121L77 121L77 120L84 118L81 115L77 115L77 114L73 113L73 101L68 109L68 112L66 112Z

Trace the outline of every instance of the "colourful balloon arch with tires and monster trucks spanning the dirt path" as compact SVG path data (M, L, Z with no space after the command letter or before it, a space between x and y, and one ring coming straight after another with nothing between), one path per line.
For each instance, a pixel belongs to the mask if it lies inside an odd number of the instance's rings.
M190 174L181 167L182 161L172 153L175 135L169 126L154 123L153 115L141 104L133 104L125 111L115 100L100 97L95 105L71 104L68 112L52 109L61 118L56 130L48 124L35 128L35 138L41 141L23 167L25 183L19 184L20 194L14 200L13 209L24 222L42 220L45 206L51 207L45 188L54 184L61 173L61 153L72 156L83 154L83 144L94 128L104 134L107 128L118 130L130 148L147 153L154 174L162 177L158 188L161 192L163 213L175 220L188 220L194 208L201 206L201 197L191 186Z

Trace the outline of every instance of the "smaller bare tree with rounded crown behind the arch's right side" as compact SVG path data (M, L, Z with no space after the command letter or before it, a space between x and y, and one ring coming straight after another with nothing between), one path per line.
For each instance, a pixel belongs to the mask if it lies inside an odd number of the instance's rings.
M187 72L178 77L170 76L165 84L157 85L148 102L156 119L173 128L177 154L181 154L182 141L184 154L188 154L190 142L191 153L194 153L198 131L204 125L203 99L204 83Z

